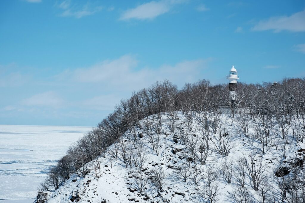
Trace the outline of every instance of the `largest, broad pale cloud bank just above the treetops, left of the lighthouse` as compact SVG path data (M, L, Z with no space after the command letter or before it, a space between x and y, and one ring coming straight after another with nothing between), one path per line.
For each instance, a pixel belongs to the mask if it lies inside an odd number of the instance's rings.
M138 67L138 60L132 55L105 60L88 68L65 71L57 78L69 80L69 84L92 84L100 89L113 91L133 91L150 86L155 81L168 79L177 85L198 80L198 75L211 59L182 61L175 65L160 67Z

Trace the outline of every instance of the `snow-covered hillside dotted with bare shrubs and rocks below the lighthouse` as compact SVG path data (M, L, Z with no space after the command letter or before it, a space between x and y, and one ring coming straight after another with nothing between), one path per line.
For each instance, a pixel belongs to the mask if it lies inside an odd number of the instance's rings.
M251 119L246 119L245 132L239 115L209 114L208 129L202 115L175 116L164 113L141 120L88 163L85 177L74 174L58 190L41 192L37 202L263 202L262 191L265 202L280 202L281 178L274 173L288 173L296 160L303 165L304 144L292 137L293 127L283 140L275 120L263 153L262 129ZM257 191L247 164L261 172Z

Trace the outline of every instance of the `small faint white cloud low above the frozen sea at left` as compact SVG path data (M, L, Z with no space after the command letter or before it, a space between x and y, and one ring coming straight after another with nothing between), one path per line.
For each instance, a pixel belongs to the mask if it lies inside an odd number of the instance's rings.
M30 98L23 99L22 105L27 106L47 106L59 108L63 105L64 101L54 91L47 91L41 94L36 94Z

